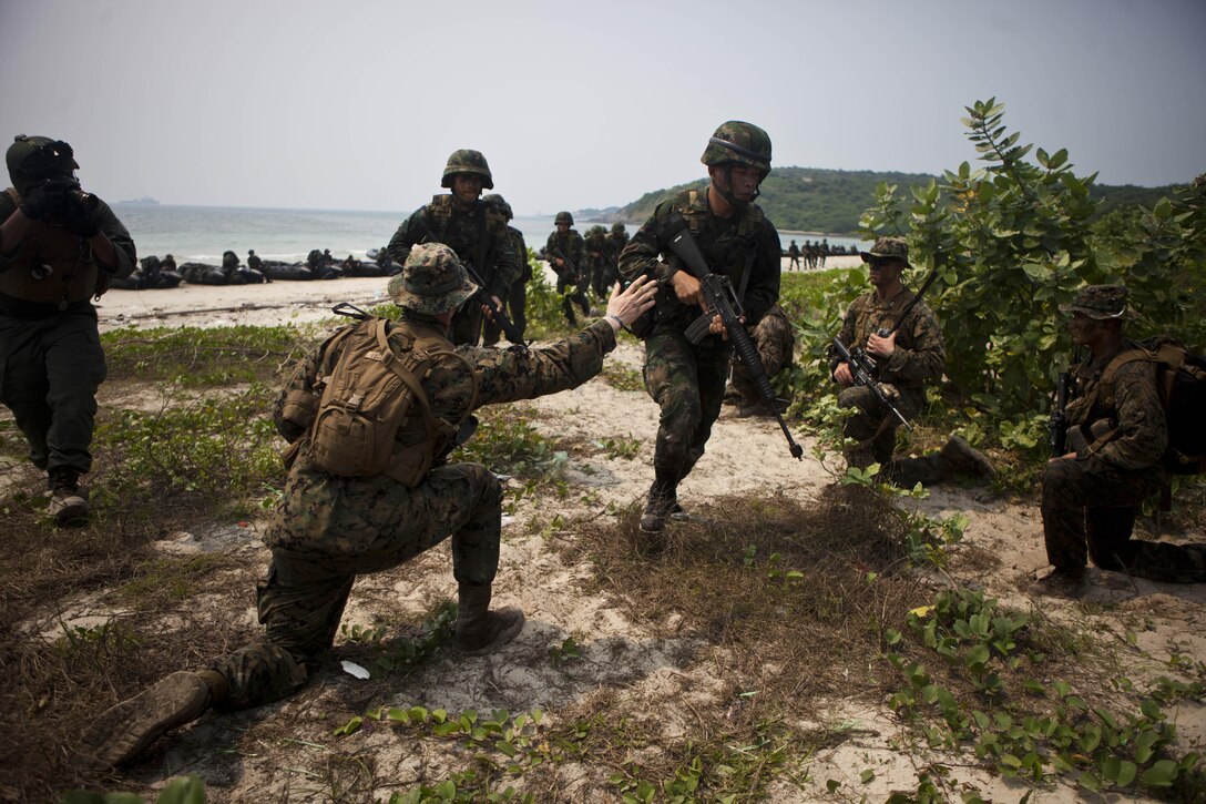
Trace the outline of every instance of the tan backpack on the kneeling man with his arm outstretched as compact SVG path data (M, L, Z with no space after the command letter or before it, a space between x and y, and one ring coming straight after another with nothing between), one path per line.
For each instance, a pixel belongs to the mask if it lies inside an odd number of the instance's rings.
M309 465L341 477L385 474L415 487L457 433L456 425L432 414L421 380L439 360L468 361L435 333L406 324L393 325L391 333L388 326L386 319L367 316L336 332L323 350L315 392L291 392L285 416L305 424L312 415ZM339 360L330 366L336 350ZM414 438L399 437L411 432Z

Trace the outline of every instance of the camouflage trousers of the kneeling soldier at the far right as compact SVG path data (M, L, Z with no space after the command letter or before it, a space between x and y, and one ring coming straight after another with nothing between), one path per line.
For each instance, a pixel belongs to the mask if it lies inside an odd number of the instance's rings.
M1206 581L1206 546L1131 538L1140 506L1164 482L1159 467L1126 471L1096 458L1047 464L1042 501L1047 560L1071 572L1091 559L1102 570L1152 581Z

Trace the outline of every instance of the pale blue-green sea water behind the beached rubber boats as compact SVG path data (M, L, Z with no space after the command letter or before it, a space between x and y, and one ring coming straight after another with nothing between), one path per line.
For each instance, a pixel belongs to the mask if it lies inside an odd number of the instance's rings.
M172 255L177 263L218 264L230 250L246 260L254 249L263 260L297 262L311 249L330 249L336 260L349 254L364 258L369 249L385 247L409 212L346 210L252 209L241 206L177 206L169 204L113 204L113 212L130 231L140 257ZM523 233L529 249L544 246L554 231L552 215L519 216L511 226ZM590 221L575 221L585 232ZM609 226L609 225L608 225ZM610 227L609 227L610 228ZM628 233L637 226L628 225ZM783 247L795 239L803 245L815 234L780 232ZM830 237L830 245L859 245L857 240ZM863 244L865 245L865 244Z

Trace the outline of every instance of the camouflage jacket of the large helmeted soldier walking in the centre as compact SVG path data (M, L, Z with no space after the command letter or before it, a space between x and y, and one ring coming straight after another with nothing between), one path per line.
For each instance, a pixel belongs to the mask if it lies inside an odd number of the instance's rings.
M713 273L728 276L737 292L748 274L742 307L745 325L756 326L779 298L779 233L756 204L749 204L731 220L716 217L708 208L708 192L709 188L685 190L658 204L620 255L620 276L631 282L646 274L657 281L656 322L685 330L699 316L701 309L687 309L674 293L669 279L686 268L661 238L671 216L681 214Z

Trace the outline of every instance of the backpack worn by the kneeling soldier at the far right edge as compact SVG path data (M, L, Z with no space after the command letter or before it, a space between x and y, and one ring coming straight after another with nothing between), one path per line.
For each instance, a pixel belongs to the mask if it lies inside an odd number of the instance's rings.
M1161 459L1165 468L1176 474L1206 472L1206 357L1167 336L1135 342L1101 373L1107 397L1113 396L1118 369L1136 360L1155 363L1155 385L1169 426L1169 447Z

